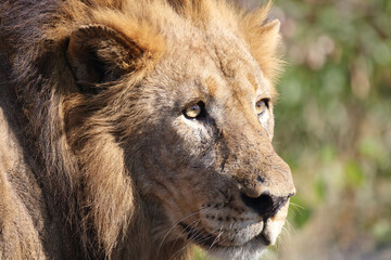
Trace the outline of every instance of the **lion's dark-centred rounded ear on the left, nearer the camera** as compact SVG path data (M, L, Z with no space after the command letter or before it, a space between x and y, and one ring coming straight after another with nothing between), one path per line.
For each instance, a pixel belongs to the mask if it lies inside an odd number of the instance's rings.
M144 52L118 30L91 25L72 32L66 56L80 90L94 93L100 84L141 68Z

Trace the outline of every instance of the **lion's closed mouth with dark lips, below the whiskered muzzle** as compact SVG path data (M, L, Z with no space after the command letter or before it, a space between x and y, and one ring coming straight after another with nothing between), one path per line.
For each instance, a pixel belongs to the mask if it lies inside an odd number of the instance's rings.
M243 248L243 247L265 247L272 245L270 238L266 235L266 225L264 225L262 232L254 236L253 238L242 243L235 244L235 239L230 239L227 243L227 239L220 239L219 236L213 235L209 233L203 227L192 227L184 222L179 222L179 224L184 231L186 232L186 236L189 240L195 243L197 245L205 248Z

